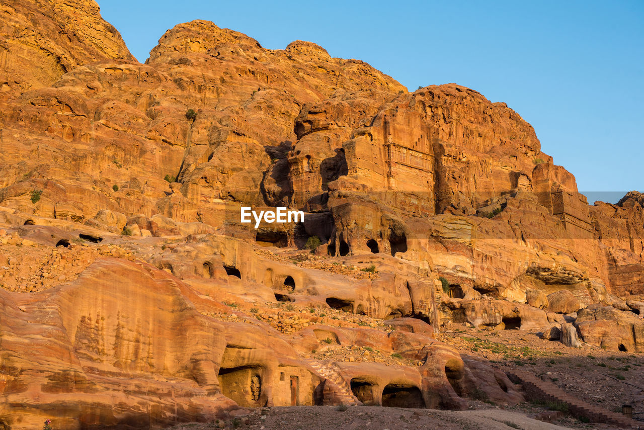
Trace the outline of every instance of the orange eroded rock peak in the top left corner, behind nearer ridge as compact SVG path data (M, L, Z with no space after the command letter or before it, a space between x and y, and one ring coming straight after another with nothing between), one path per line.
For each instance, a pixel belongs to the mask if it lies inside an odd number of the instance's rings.
M82 64L135 60L93 0L4 2L0 34L3 93L50 86Z

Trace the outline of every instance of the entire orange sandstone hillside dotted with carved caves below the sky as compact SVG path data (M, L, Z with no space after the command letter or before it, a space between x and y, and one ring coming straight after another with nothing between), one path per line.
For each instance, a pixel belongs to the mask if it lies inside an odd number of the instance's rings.
M504 103L209 21L140 64L93 0L0 32L5 428L522 402L461 328L644 352L644 197L589 206Z

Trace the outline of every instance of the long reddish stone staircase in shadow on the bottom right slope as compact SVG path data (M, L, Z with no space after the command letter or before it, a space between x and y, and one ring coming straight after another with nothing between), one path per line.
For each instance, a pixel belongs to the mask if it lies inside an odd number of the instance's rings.
M603 407L594 406L580 398L569 395L552 382L538 379L535 375L524 371L506 371L507 377L515 384L522 384L529 400L556 402L567 406L568 411L577 417L585 417L590 422L611 424L622 429L644 429L644 425L631 420L619 413L614 413Z

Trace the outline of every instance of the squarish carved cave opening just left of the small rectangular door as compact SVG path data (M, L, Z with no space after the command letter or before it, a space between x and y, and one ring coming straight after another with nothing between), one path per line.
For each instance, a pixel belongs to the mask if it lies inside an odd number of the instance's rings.
M242 407L260 406L261 376L257 368L242 366L220 369L222 393Z

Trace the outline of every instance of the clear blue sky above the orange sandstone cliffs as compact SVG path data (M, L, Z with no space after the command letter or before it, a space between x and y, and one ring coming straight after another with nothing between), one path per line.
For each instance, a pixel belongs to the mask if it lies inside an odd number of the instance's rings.
M98 2L142 62L175 24L207 19L265 48L316 42L412 91L468 86L530 122L580 191L644 192L642 0Z

